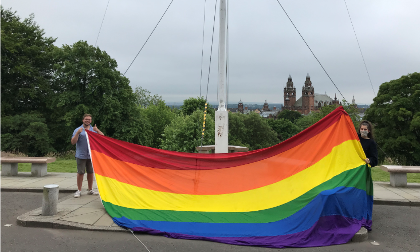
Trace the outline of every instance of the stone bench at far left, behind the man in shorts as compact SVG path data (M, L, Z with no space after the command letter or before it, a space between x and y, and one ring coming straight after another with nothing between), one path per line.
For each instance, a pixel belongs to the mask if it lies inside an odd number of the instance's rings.
M2 157L2 176L16 176L18 174L18 163L31 164L33 177L42 177L46 175L48 163L55 162L56 158L38 158L38 157Z

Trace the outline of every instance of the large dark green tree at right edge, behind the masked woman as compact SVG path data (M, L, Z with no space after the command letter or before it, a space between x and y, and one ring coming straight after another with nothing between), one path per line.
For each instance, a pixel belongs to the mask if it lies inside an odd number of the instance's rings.
M363 119L375 124L375 140L387 155L420 165L420 73L381 84Z

